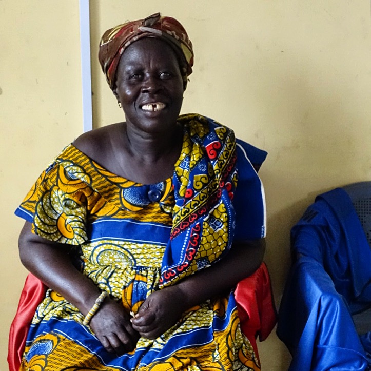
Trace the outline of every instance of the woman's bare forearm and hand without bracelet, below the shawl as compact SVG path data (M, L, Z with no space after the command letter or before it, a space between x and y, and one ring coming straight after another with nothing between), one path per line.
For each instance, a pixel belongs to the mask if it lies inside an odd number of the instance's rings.
M142 336L155 339L179 320L182 313L221 292L230 290L255 272L263 261L265 240L233 244L220 262L178 284L153 292L131 320Z

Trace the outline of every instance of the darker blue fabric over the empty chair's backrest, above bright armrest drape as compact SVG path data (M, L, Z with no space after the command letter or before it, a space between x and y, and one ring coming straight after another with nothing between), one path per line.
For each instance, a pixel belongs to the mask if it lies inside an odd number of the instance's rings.
M313 241L312 236L315 246L307 243L307 239ZM352 313L370 305L371 248L352 201L342 188L318 196L292 228L291 238L296 252L322 261Z

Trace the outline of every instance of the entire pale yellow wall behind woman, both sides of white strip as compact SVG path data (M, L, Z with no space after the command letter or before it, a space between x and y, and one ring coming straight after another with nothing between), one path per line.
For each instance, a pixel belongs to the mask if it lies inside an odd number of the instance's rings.
M6 369L7 332L26 274L16 251L22 222L13 209L82 130L77 1L13 3L0 1L6 25L0 36L0 369ZM292 224L316 194L371 178L370 4L91 0L95 126L123 119L96 62L100 35L157 11L177 17L194 45L183 112L209 115L269 152L260 173L268 209L265 260L279 303ZM275 331L258 345L263 369L287 369L288 352Z

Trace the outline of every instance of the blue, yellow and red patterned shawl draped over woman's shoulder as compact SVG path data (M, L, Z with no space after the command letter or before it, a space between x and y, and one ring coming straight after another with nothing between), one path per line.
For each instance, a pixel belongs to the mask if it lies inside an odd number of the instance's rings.
M160 286L167 286L220 260L235 229L237 186L233 131L197 114L182 115L185 145L175 164L175 205Z

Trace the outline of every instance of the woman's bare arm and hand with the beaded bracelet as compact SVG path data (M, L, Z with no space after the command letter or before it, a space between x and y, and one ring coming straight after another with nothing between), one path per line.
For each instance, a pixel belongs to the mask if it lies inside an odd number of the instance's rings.
M31 232L29 222L21 231L18 245L24 266L86 316L101 291L73 266L68 256L68 245L35 235ZM90 327L108 352L129 352L139 338L124 307L110 298L104 300L93 316Z

